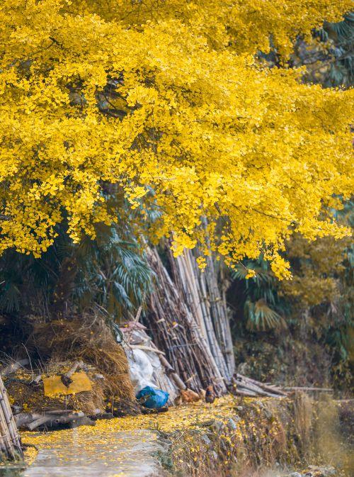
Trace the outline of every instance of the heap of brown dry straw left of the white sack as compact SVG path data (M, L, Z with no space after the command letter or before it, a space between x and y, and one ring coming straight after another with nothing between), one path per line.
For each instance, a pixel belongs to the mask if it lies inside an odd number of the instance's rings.
M40 359L79 359L104 376L106 398L136 408L124 349L115 342L103 320L35 322L28 349Z

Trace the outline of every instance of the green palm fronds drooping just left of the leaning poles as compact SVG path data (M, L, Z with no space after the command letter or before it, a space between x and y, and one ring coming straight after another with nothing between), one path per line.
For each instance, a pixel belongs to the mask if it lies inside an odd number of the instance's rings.
M86 237L76 250L76 260L74 301L81 308L93 302L120 319L125 310L145 303L154 273L137 242L122 240L115 227L103 228L96 240Z

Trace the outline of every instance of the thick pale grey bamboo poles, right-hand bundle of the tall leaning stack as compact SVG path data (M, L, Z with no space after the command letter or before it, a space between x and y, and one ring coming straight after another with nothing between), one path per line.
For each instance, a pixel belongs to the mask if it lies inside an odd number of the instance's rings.
M207 257L205 271L200 271L193 253L185 250L176 259L171 255L171 269L173 280L192 310L222 376L230 381L235 369L232 335L212 255Z

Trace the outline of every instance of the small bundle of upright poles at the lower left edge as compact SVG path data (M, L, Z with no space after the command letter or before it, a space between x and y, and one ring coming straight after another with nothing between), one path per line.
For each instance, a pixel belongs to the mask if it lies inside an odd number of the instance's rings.
M23 459L21 439L0 376L0 461L21 459Z

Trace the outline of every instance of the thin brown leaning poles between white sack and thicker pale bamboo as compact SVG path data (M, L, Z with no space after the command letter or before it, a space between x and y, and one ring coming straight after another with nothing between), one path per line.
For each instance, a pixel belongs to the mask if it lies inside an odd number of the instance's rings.
M181 288L172 281L156 249L148 249L147 258L157 276L147 314L155 344L164 350L166 359L188 388L199 392L200 388L214 384L223 393L226 391L223 369L205 339L202 323L198 322Z

